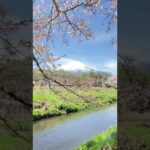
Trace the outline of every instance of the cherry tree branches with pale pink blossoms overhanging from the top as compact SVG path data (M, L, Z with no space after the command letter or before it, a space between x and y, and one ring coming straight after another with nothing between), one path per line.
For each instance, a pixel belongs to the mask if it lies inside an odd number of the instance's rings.
M107 32L117 24L117 0L35 0L33 10L34 62L47 80L52 79L43 68L56 68L55 62L60 59L52 53L55 40L68 44L70 38L93 38L90 21L96 13L104 15L102 23Z

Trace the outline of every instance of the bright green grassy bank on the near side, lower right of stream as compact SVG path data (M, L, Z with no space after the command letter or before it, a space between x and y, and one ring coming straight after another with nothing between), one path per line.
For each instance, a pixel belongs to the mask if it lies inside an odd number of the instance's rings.
M111 127L82 144L76 150L115 150L117 148L117 128Z

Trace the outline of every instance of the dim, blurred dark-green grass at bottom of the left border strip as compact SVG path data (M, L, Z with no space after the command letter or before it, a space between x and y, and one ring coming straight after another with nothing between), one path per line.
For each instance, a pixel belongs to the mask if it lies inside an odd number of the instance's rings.
M32 120L7 117L5 121L7 126L0 120L0 150L32 149Z

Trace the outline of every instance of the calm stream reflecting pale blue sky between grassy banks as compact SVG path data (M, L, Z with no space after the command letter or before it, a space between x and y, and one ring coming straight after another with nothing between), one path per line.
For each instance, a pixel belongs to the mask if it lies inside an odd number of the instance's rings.
M116 105L39 121L33 125L33 150L73 150L116 121Z

